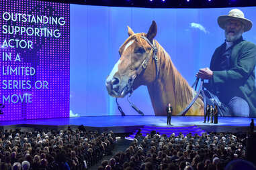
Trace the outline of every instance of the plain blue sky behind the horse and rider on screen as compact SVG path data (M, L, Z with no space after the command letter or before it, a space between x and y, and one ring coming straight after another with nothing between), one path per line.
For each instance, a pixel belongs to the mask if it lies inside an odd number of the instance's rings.
M147 32L157 22L155 39L171 56L177 70L192 84L200 68L210 66L214 50L224 42L217 18L232 8L144 9L71 5L71 116L120 115L105 79L120 58L118 50L135 33ZM256 7L239 8L256 21ZM192 24L194 23L194 24ZM256 44L255 26L243 34ZM134 91L132 102L146 115L154 115L146 86ZM137 115L126 98L119 100L126 115Z

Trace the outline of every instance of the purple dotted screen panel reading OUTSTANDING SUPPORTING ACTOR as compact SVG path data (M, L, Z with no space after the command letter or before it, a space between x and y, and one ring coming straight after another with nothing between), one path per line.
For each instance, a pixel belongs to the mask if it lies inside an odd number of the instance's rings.
M69 117L69 4L0 1L0 120Z

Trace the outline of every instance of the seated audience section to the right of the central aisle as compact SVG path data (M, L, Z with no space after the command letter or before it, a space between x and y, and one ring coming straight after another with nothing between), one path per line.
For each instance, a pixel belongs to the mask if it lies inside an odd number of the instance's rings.
M220 170L230 161L245 159L245 143L246 135L230 133L167 137L153 131L143 137L138 132L126 151L102 161L98 170Z

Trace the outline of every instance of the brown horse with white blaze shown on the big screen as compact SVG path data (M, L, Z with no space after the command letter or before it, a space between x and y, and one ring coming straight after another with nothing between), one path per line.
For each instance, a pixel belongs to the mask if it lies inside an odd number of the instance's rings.
M120 59L106 80L108 93L123 98L128 94L128 85L135 90L140 85L147 86L155 115L166 115L167 103L173 106L173 115L179 114L191 102L196 92L175 68L171 58L163 47L154 40L157 35L157 24L151 24L148 33L134 33L128 27L128 39L120 47ZM156 61L153 59L154 44L157 48L159 75L156 72ZM150 58L146 68L138 72L145 58ZM198 98L189 108L186 115L204 115L204 102Z

